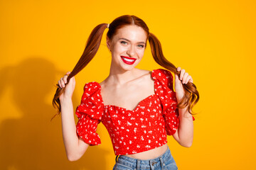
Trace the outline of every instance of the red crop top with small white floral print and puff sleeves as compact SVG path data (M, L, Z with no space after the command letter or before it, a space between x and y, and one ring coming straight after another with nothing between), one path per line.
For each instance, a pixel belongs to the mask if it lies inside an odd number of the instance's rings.
M109 132L115 155L135 154L166 144L166 135L174 135L179 122L173 77L165 69L153 70L151 77L155 94L144 98L132 111L105 106L100 84L95 81L85 84L81 104L75 112L77 134L82 140L90 146L100 145L96 129L102 122Z

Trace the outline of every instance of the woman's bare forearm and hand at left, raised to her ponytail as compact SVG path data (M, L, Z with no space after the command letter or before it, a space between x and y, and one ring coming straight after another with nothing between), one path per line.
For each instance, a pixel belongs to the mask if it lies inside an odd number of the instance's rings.
M67 74L69 74L68 72ZM59 85L65 87L68 75L60 79ZM63 130L63 142L69 161L76 161L85 154L89 145L76 134L75 118L73 112L72 96L75 89L75 77L72 77L60 96L61 122Z

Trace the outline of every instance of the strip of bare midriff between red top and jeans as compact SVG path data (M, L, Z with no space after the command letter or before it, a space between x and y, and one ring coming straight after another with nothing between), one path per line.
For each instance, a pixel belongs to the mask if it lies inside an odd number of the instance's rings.
M164 152L166 152L168 148L168 145L162 145L161 147L156 147L155 149L150 149L148 151L145 152L140 152L137 154L126 154L124 156L126 157L131 157L133 159L155 159L156 157L161 156L162 154L164 154Z

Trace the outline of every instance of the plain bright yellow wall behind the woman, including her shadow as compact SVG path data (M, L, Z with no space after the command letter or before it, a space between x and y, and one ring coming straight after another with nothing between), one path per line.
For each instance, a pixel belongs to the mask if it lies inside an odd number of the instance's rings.
M0 1L0 169L112 169L114 152L100 123L102 145L78 162L65 156L54 85L78 62L90 31L132 14L142 18L164 55L192 75L201 99L191 148L168 137L179 169L255 169L255 1ZM105 31L105 34L107 30ZM110 69L105 35L76 77L74 108L88 81ZM141 69L157 69L148 46Z

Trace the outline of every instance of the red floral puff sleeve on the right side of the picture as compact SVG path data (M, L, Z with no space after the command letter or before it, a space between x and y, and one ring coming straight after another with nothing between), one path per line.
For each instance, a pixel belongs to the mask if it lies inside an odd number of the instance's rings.
M176 92L173 90L173 76L166 69L155 69L152 77L155 83L155 93L161 101L166 134L174 135L178 129L179 118Z

